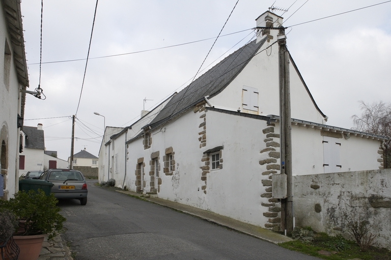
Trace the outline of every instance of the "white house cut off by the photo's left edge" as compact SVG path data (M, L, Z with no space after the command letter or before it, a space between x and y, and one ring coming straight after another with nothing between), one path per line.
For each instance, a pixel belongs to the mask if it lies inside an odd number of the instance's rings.
M23 124L25 90L29 87L20 1L0 5L0 197L18 190L19 127Z

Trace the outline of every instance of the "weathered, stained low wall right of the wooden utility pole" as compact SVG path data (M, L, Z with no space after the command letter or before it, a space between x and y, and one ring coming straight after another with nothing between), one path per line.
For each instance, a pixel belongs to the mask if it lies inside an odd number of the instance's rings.
M297 226L342 234L347 221L368 220L377 244L391 248L391 169L294 176Z

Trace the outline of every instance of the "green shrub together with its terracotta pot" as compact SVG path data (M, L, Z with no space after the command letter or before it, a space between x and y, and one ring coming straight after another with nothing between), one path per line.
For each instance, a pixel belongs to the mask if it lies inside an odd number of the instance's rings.
M57 202L53 193L46 196L41 189L20 190L15 198L0 201L0 208L11 210L19 221L19 229L13 236L20 248L19 260L38 259L45 234L50 240L63 230L66 219L59 213Z

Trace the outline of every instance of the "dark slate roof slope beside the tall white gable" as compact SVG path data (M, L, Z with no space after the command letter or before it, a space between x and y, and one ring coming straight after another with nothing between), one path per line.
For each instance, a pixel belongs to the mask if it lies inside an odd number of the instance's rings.
M254 57L265 41L266 38L257 44L254 40L220 61L212 69L173 96L149 125L152 128L156 127L201 102L205 96L209 95L211 98L224 90Z

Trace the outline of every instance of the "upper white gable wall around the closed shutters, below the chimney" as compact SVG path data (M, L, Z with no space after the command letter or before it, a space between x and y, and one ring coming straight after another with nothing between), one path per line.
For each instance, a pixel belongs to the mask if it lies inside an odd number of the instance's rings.
M263 25L265 26L265 25ZM278 30L271 30L273 40L266 42L258 54L250 60L241 73L218 95L210 98L210 103L216 108L232 111L243 110L242 87L249 86L258 89L259 115L279 115L279 72L278 72L278 44L275 43L265 51L277 39ZM265 36L260 39L265 38ZM291 89L291 115L292 118L325 123L322 115L316 109L311 96L303 85L298 72L290 63L290 89Z

